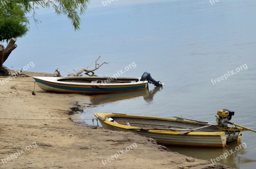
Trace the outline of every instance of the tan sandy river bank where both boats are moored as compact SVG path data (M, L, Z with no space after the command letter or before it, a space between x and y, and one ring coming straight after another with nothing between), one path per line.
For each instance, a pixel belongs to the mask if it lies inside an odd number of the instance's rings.
M0 168L230 168L200 159L189 163L186 156L164 150L154 140L137 134L77 124L68 112L76 102L90 103L90 96L46 93L37 85L33 96L32 77L13 80L0 84ZM127 147L132 149L122 154ZM119 157L110 159L115 154Z

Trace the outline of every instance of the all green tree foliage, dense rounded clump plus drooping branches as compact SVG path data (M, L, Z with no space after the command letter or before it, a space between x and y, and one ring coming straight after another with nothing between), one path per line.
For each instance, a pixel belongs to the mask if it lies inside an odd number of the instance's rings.
M0 41L18 38L28 32L26 13L32 13L36 20L36 9L39 7L53 8L60 15L64 14L71 20L75 30L80 29L80 15L84 14L90 0L0 0ZM23 10L22 10L23 7Z

